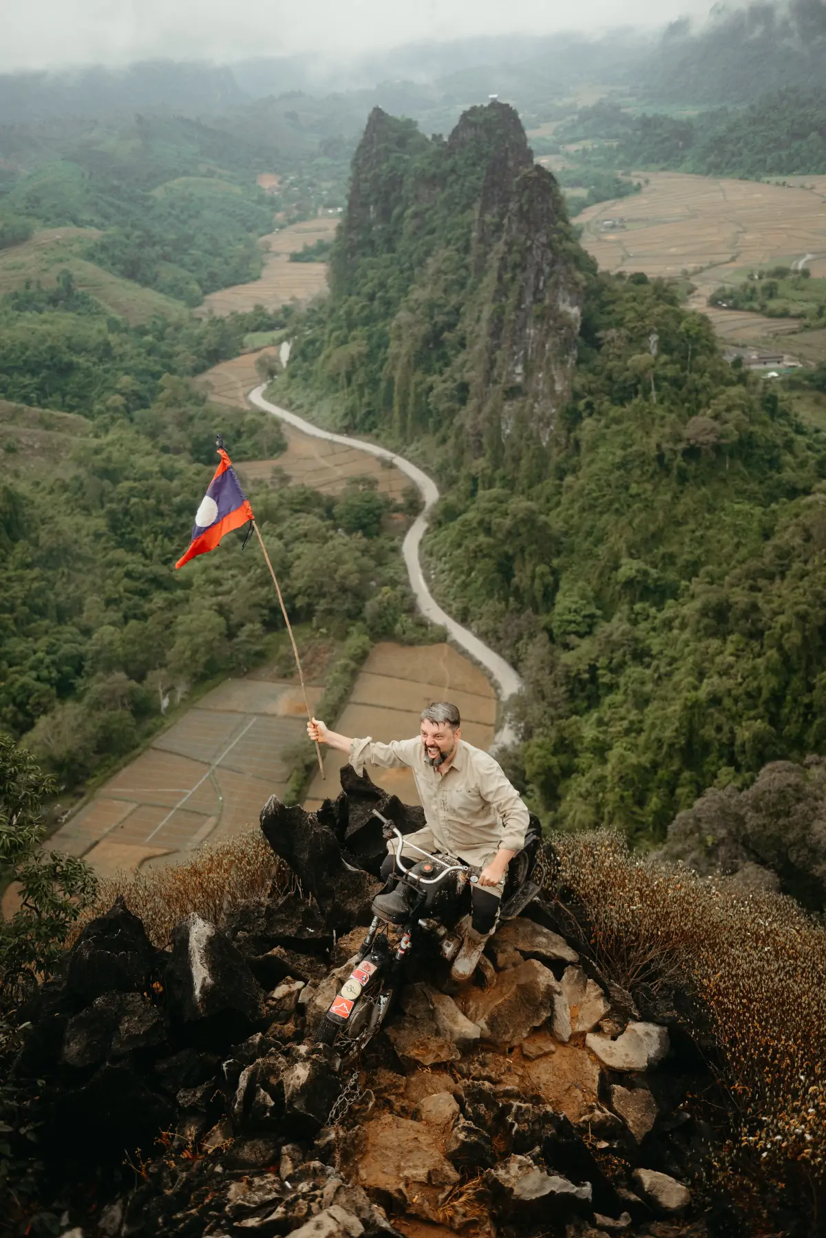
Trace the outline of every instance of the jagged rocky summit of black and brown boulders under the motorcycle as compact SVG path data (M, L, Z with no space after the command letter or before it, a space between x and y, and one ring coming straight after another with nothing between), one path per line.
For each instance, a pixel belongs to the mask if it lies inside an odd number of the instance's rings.
M263 813L315 898L280 886L223 926L189 915L168 951L118 900L41 987L19 1068L43 1081L54 1172L94 1184L64 1232L703 1234L700 1055L672 1010L606 982L545 899L502 924L463 988L414 959L359 1061L315 1042L375 885L350 873L342 893L342 844L360 834L374 867L372 807L419 820L352 770L344 785L318 813Z

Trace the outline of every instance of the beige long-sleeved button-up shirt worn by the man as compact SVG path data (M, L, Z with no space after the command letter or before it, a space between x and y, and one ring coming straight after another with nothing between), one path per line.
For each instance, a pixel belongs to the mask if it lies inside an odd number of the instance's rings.
M350 744L350 765L359 774L365 761L414 771L425 820L441 851L484 865L499 849L518 852L525 846L528 808L502 766L480 748L459 739L450 769L440 774L427 764L419 737L379 744L368 735Z

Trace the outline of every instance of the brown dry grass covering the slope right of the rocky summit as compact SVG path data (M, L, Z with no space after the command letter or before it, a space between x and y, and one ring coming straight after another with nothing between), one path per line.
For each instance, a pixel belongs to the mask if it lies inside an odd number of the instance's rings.
M711 1030L731 1102L716 1165L755 1208L826 1208L826 930L791 899L738 893L628 853L619 834L557 841L556 893L612 979L682 982ZM814 1232L814 1229L812 1229Z

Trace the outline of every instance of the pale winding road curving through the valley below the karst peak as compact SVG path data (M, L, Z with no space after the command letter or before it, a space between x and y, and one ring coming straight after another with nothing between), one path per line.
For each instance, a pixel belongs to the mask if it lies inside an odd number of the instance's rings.
M265 400L264 390L265 384L261 384L249 394L250 402L258 409L271 412L275 417L286 421L290 426L295 426L296 430L301 430L305 435L310 435L313 438L326 438L328 442L341 443L344 447L354 447L358 451L368 452L370 456L386 459L414 482L425 500L425 506L407 530L401 551L407 567L407 576L410 577L410 587L416 595L419 608L432 623L442 624L459 649L463 649L466 654L469 654L474 661L485 669L495 683L503 702L519 692L523 685L513 666L505 662L504 657L500 657L493 649L489 649L478 636L474 636L472 631L468 631L467 628L451 619L438 605L427 587L421 566L420 547L427 527L427 514L438 499L438 489L433 479L402 456L396 456L395 452L388 451L386 447L379 447L376 443L365 443L359 438L350 438L349 435L334 435L329 430L322 430L321 426L313 426L311 421L305 421L297 413L290 412L287 409L281 409L279 405L271 404L270 400ZM497 732L493 747L513 743L515 738L513 728L505 723Z

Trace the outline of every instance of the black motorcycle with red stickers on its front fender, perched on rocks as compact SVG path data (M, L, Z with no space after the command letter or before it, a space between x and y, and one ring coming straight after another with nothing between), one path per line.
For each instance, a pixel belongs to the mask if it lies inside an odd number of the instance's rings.
M395 839L396 891L401 898L374 900L373 921L353 971L316 1029L316 1041L336 1045L344 1057L360 1052L386 1021L414 954L430 951L448 964L456 958L471 924L471 889L480 873L458 857L431 855L412 843L406 844L407 851L421 859L405 868L404 836L378 810L373 816L381 822L384 838ZM540 842L539 823L531 821L523 851L510 862L497 922L518 916L539 894L540 885L531 878Z

